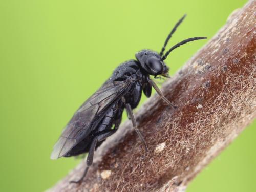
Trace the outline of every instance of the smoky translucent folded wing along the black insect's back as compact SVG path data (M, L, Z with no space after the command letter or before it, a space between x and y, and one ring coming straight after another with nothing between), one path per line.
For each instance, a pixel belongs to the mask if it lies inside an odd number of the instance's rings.
M120 99L131 88L131 85L131 81L106 81L75 112L54 145L51 159L57 159L67 154L77 143L87 137L103 117L102 114L110 105Z

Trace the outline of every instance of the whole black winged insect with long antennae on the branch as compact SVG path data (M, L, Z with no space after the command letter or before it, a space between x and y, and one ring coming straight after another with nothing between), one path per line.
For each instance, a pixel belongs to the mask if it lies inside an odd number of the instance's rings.
M133 127L147 151L146 142L137 128L132 112L139 104L142 91L147 97L150 97L153 87L166 103L175 108L164 97L154 81L150 79L150 75L153 75L155 78L160 78L158 75L168 77L169 68L163 61L169 53L187 42L206 38L188 38L179 42L164 54L167 42L185 16L179 20L167 36L160 53L142 50L136 53L137 60L129 60L119 65L112 76L80 106L69 121L54 146L51 159L57 159L62 156L77 156L88 152L87 167L84 170L83 176L78 181L72 182L79 183L86 176L88 168L93 162L95 149L101 145L103 140L116 132L124 109L127 110Z

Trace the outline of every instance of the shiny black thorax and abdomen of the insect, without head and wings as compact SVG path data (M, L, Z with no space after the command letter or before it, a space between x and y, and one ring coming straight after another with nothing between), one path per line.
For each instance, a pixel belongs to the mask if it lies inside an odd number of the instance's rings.
M130 103L132 109L134 109L140 102L142 90L147 97L151 96L152 87L148 83L148 79L148 75L143 73L140 69L139 62L136 60L129 60L119 65L109 80L104 84L109 84L111 81L132 81L132 86L126 91L123 97L125 98L125 103ZM104 85L102 87L104 87ZM123 103L122 99L119 98L116 103L112 104L110 108L102 114L102 119L96 128L74 148L72 148L72 150L64 155L64 157L76 156L89 152L90 144L95 136L111 130L113 125L114 129L117 130L121 122L125 103ZM98 142L96 148L100 146L102 142L103 141Z

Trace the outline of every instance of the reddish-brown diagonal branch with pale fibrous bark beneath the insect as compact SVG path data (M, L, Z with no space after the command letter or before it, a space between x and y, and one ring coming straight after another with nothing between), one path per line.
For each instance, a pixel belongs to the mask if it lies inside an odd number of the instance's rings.
M256 1L232 14L227 24L174 78L164 95L136 114L149 152L130 121L95 154L81 183L82 162L51 191L181 191L256 115Z

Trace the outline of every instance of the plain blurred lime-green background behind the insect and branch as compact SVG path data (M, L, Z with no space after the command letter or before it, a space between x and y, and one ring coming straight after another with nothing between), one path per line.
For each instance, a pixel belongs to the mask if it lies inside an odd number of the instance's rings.
M62 127L119 63L144 48L159 51L184 13L168 47L188 37L211 38L245 3L1 0L0 191L43 191L75 167L80 160L50 160ZM170 74L206 42L175 50L166 59ZM256 191L255 125L187 191Z

